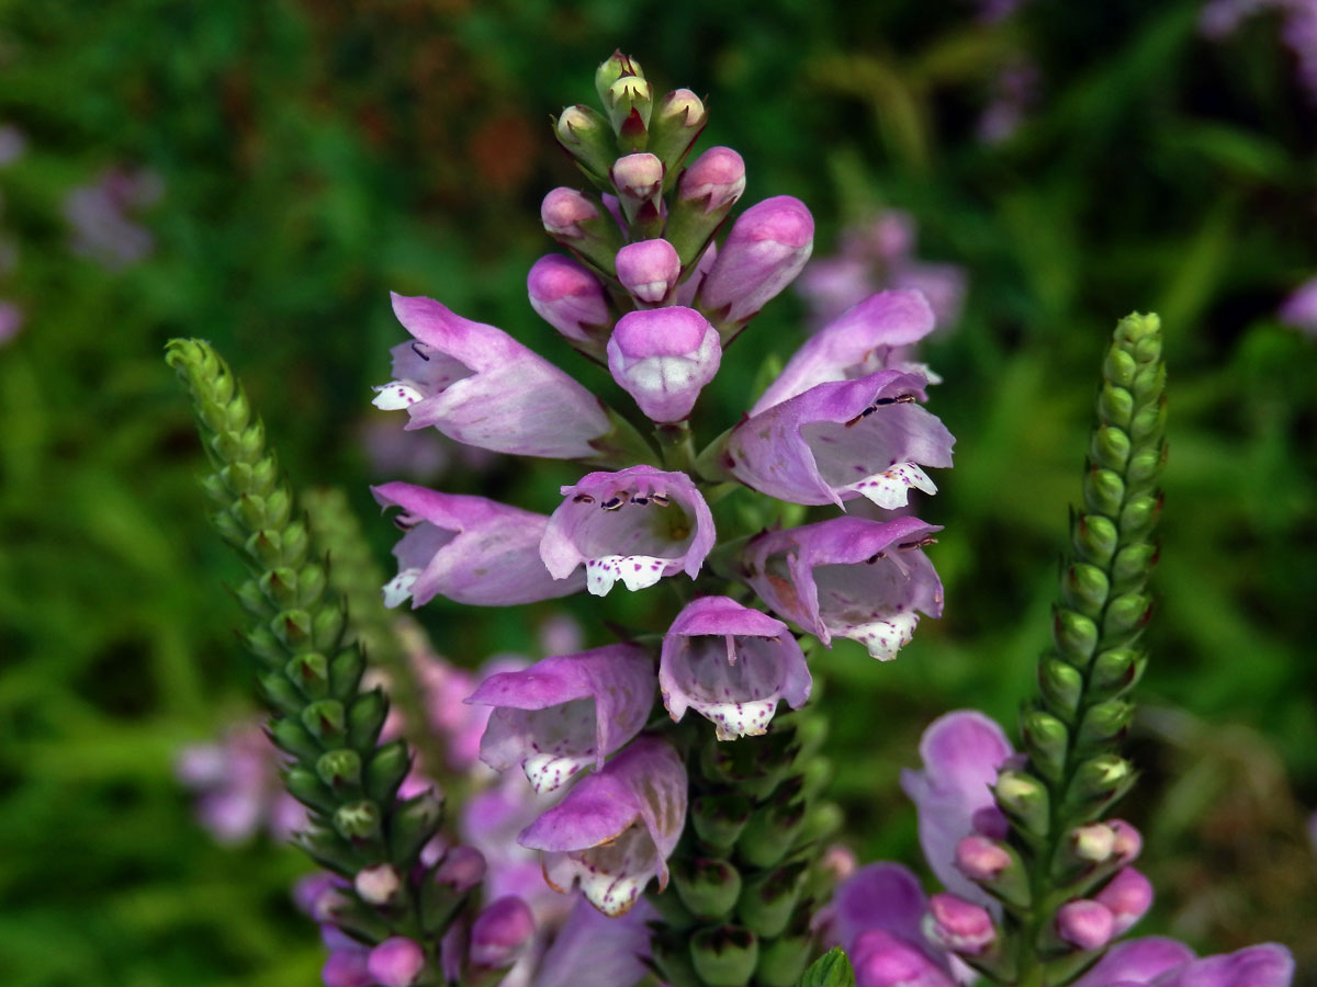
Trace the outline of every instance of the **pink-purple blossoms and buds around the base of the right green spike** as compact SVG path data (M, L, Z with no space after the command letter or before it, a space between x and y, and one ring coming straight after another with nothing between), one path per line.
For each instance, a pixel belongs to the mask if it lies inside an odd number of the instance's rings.
M973 711L947 713L925 732L919 754L923 767L901 780L918 809L925 858L946 891L926 898L897 863L861 867L838 888L832 929L855 963L857 987L955 987L973 976L972 967L1009 963L998 920L1030 892L993 797L1000 771L1019 759L1001 728ZM1143 917L1152 886L1130 866L1141 848L1138 830L1122 820L1069 833L1056 866L1089 891L1040 930L1051 955L1093 954ZM1292 975L1283 946L1196 959L1179 942L1148 937L1115 945L1075 984L1287 987Z

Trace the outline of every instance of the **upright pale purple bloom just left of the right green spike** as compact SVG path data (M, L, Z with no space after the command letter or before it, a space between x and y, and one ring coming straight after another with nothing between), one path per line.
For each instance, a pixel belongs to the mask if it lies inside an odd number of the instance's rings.
M901 787L919 813L919 845L943 887L960 898L997 905L955 866L956 844L975 832L975 813L993 807L992 786L1014 751L993 720L972 709L947 713L919 741L923 769L901 772Z

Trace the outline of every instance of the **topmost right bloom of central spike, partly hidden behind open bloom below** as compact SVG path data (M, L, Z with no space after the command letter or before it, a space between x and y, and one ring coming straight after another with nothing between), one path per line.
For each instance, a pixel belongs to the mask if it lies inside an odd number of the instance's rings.
M932 309L917 291L871 295L806 340L749 413L759 415L815 384L888 370L893 350L918 342L932 325Z

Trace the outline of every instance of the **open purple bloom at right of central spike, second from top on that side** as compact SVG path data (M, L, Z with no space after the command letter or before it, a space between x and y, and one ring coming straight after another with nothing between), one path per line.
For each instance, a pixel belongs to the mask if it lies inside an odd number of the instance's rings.
M794 504L863 496L892 511L911 487L936 494L922 467L951 466L956 440L918 404L926 384L898 370L815 384L732 430L732 475Z

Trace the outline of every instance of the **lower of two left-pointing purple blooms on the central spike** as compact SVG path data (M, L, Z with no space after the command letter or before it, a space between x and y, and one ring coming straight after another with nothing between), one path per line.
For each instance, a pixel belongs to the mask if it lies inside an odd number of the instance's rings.
M581 590L572 574L551 576L540 559L549 519L485 497L385 483L371 487L383 507L400 507L406 534L394 546L398 575L385 584L385 605L420 607L446 596L457 603L506 607Z

